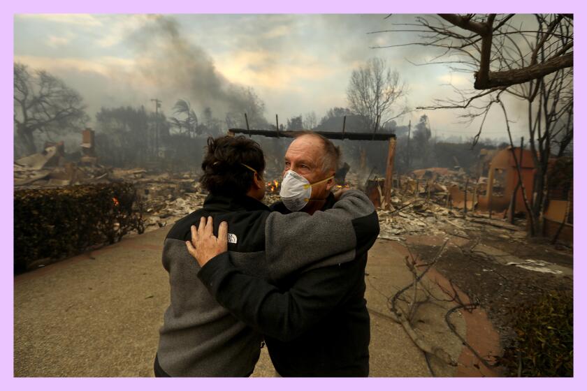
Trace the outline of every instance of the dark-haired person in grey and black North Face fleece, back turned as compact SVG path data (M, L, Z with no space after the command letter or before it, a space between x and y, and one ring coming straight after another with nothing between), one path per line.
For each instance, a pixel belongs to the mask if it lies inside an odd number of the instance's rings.
M308 267L354 263L356 248L365 246L356 233L357 219L363 219L361 229L368 235L377 235L372 204L358 191L342 194L332 209L312 216L270 212L260 202L264 168L263 151L253 140L208 140L201 184L210 195L202 209L175 223L164 243L171 304L160 330L156 376L249 376L259 359L261 334L222 308L198 280L201 269L186 241L202 217L228 222L229 232L224 224L222 232L234 270L267 281ZM219 225L213 231L210 225L210 232L219 232Z

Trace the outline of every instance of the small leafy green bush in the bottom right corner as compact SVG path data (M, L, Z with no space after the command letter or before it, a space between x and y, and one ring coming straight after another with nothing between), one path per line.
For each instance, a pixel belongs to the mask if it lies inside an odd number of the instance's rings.
M573 299L563 290L510 309L516 340L498 362L508 376L573 376Z

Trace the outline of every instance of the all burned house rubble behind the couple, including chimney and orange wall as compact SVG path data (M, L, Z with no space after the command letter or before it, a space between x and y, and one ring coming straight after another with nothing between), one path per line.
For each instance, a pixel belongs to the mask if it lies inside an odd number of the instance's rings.
M353 135L343 132L340 137L349 138L349 134ZM382 140L389 138L386 135L377 137ZM346 161L335 175L338 187L361 189L372 200L381 223L380 237L402 240L403 235L439 233L443 225L465 232L472 228L471 225L479 224L479 221L483 221L486 226L523 235L526 205L522 190L517 186L519 179L512 149L481 149L477 164L468 172L456 165L452 168L423 168L405 175L394 175L395 139L390 140L393 141L390 144L386 177L375 176L365 180ZM165 226L203 205L207 194L201 189L199 175L195 170L161 172L145 168L108 167L99 163L94 131L83 131L81 141L81 156L75 161L64 153L63 142L46 143L43 152L17 159L14 162L15 189L131 182L138 193L138 207L147 230ZM528 150L520 153L519 148L516 148L514 153L521 161L523 188L526 189L526 198L530 198L534 175L532 157ZM455 162L458 163L456 159ZM266 172L266 203L279 200L280 177L281 172L277 170L268 169ZM561 240L570 243L572 183L570 186L557 186L549 193L551 200L544 214L545 231L546 235L558 235ZM514 217L518 218L515 225L511 224Z

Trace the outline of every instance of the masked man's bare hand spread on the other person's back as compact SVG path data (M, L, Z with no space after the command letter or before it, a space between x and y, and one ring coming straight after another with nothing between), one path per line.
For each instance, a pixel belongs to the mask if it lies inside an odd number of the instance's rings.
M218 227L218 237L214 236L212 216L200 219L200 226L191 226L191 242L185 242L187 251L196 258L200 266L208 263L215 256L228 251L229 224L222 221Z

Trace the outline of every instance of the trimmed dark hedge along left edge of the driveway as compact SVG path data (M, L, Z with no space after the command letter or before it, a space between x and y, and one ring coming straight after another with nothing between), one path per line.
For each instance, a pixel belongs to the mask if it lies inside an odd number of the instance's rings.
M14 267L71 256L96 244L143 233L142 207L132 184L93 184L14 193Z

